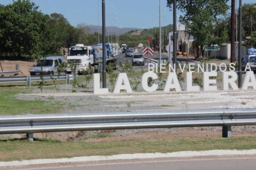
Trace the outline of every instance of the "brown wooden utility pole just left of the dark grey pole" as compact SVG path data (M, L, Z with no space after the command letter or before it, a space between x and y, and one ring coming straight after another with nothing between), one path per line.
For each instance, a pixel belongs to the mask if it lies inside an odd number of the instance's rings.
M236 0L232 0L231 1L231 56L230 56L230 62L235 62L236 58L235 58L235 22L236 22L236 18L235 18L235 5L236 5ZM219 44L221 45L221 44Z

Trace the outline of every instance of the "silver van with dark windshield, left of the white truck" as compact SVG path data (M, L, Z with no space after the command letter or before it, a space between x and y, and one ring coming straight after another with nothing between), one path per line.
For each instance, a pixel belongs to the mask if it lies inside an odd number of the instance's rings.
M65 62L62 56L42 57L30 70L30 75L54 75L57 73L58 64Z

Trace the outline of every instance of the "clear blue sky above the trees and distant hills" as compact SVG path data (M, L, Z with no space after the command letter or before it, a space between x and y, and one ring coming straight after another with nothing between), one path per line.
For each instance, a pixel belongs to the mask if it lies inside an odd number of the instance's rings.
M6 5L12 3L12 1L0 0L0 4ZM100 25L102 23L101 0L32 1L45 14L54 12L63 14L73 26L80 23L98 25L98 2L100 2ZM229 5L230 1L228 2ZM255 3L255 0L243 0L243 3ZM106 0L106 25L137 28L158 26L158 5L159 0ZM161 0L161 9L162 25L171 24L173 22L173 12L166 7L166 0ZM177 11L177 15L182 15L182 13Z

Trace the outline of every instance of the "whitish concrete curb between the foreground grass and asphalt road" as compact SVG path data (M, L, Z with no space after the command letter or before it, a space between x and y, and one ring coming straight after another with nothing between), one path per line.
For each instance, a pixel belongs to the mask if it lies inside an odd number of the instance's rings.
M147 153L147 154L119 154L109 156L86 156L61 159L33 159L24 161L0 162L0 167L26 166L52 163L78 163L87 161L111 161L111 160L131 160L131 159L152 159L170 157L198 157L198 156L222 156L222 155L256 155L256 149L252 150L208 150L208 151L181 151L172 153Z

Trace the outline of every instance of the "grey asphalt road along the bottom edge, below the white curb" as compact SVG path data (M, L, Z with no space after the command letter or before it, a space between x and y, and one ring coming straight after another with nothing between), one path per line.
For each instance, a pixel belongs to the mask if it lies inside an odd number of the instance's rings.
M37 165L6 170L255 170L256 155L97 161ZM5 168L3 168L5 170Z

